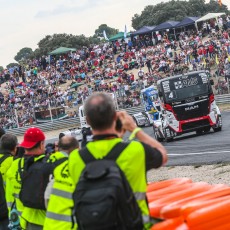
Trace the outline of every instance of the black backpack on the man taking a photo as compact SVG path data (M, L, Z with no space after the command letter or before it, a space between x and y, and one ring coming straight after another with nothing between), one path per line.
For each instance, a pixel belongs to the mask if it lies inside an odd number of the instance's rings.
M86 167L73 194L79 230L141 230L142 215L133 191L116 159L128 146L118 143L101 160L87 148L79 154Z

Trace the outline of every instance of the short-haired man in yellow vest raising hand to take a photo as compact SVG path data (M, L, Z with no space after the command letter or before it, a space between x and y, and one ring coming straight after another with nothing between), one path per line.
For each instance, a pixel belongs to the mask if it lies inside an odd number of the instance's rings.
M150 229L151 221L146 202L146 173L148 170L159 168L167 162L166 149L141 128L138 128L133 118L125 111L116 112L112 98L105 93L95 93L90 96L85 102L84 109L87 123L91 126L93 133L93 141L89 142L85 149L91 158L103 159L109 152L112 152L111 150L116 145L123 145L123 140L116 131L118 121L120 121L124 132L131 133L129 137L131 142L123 151L119 152L119 156L114 161L123 171L132 188L141 211L142 224L145 229ZM134 141L134 138L138 141ZM69 157L69 173L76 186L78 186L79 178L86 167L85 159L82 157L82 153L79 153L78 150L71 152ZM94 220L95 223L100 222L97 218ZM81 220L79 221L81 222Z

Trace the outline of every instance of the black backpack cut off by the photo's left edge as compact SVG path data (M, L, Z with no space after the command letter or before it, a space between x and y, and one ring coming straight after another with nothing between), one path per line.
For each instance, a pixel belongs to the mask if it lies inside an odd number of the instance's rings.
M6 160L6 158L8 157L10 157L10 155L5 154L0 159L0 167L1 167L2 162ZM5 189L4 189L2 174L0 173L0 220L4 220L7 217L8 217L8 209L6 205Z

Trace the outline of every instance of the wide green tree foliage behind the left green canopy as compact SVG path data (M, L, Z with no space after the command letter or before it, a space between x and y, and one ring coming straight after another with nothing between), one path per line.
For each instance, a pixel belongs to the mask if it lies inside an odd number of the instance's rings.
M53 34L47 35L38 42L38 49L34 51L34 57L41 57L47 55L49 52L59 48L68 47L79 49L83 46L91 44L98 44L99 39L95 37L86 37L85 35L72 35L72 34Z

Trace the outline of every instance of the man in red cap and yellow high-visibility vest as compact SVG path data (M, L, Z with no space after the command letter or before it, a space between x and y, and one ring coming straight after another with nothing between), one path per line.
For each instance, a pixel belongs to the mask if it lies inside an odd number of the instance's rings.
M16 209L20 217L20 225L27 230L42 230L45 220L45 210L26 207L19 198L22 188L21 169L25 167L25 162L33 160L33 163L44 159L45 155L45 134L39 128L31 127L24 134L24 139L20 145L25 148L25 157L13 161L6 175L7 202L15 197ZM30 160L29 160L30 159ZM31 166L30 166L31 167ZM37 192L28 191L28 194Z

